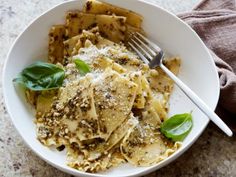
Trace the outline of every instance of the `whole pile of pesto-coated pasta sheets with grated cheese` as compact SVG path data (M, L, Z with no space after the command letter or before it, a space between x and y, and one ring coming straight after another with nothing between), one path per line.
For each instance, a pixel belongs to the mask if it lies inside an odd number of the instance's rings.
M68 12L66 24L50 30L48 60L64 69L63 86L26 95L36 107L37 138L48 147L65 147L72 168L150 166L181 145L160 132L173 82L123 43L129 32L143 31L141 22L136 13L88 0L83 12ZM78 69L77 60L89 72ZM179 58L164 64L178 74Z

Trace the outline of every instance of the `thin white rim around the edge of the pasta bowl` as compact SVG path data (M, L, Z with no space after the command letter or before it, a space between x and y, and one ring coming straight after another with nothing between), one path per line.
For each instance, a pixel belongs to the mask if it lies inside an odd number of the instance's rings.
M69 1L66 1L66 2L61 2L57 5L54 5L53 7L49 8L48 10L44 11L43 13L41 13L40 15L38 15L37 17L35 17L33 20L31 20L31 22L26 25L26 27L19 33L19 35L17 36L17 38L14 40L14 42L12 43L8 53L7 53L7 57L3 63L3 70L2 70L2 94L3 94L3 103L6 107L6 110L7 110L7 113L9 114L9 117L15 127L15 129L17 130L18 134L21 136L21 138L23 139L24 143L27 145L28 148L30 148L38 157L40 157L41 159L43 159L45 162L49 163L50 165L56 167L57 169L61 170L61 171L64 171L66 173L69 173L69 174L72 174L73 175L84 175L84 176L90 176L90 177L105 177L105 176L108 176L107 174L96 174L96 173L87 173L87 172L83 172L83 171L79 171L79 170L76 170L76 169L73 169L73 168L65 168L61 165L58 165L57 163L55 163L53 160L50 161L46 158L44 158L44 156L39 153L36 149L34 149L33 147L31 147L31 145L27 142L27 140L24 138L24 136L21 134L21 132L18 130L17 126L15 125L14 121L13 121L13 115L12 113L10 112L10 106L8 105L8 101L7 101L7 98L6 98L6 93L7 93L7 89L6 89L6 86L5 86L5 75L6 75L6 69L7 69L7 64L8 64L8 61L9 61L9 57L10 57L10 54L15 46L15 44L17 43L17 41L19 40L19 38L22 36L22 34L31 26L33 25L33 23L35 23L40 17L44 16L45 14L47 14L48 12L54 10L55 8L59 7L59 6L63 6L65 4L68 4L68 3L73 3L73 2L78 2L79 0L69 0ZM101 1L105 1L106 0L101 0ZM147 4L147 5L150 5L150 6L154 6L155 8L157 8L158 10L164 12L164 13L167 13L169 15L171 15L173 18L175 18L175 20L179 21L182 25L184 25L186 28L188 28L188 30L190 30L192 32L193 35L195 35L195 37L197 37L198 41L201 43L202 47L204 48L204 50L207 52L207 55L208 55L208 58L210 59L210 62L211 64L214 66L214 75L216 76L216 80L215 82L217 82L217 89L216 90L216 101L215 103L211 106L212 109L215 110L216 106L217 106L217 103L218 103L218 100L219 100L219 96L220 96L220 81L219 81L219 77L218 77L218 72L217 72L217 67L214 63L214 60L213 60L213 57L209 51L209 49L206 47L206 45L204 44L204 42L202 41L202 39L198 36L198 34L186 23L184 22L182 19L180 19L179 17L177 17L174 13L164 9L163 7L160 7L159 5L157 4L154 4L153 2L149 2L149 1L145 1L145 0L131 0L130 2L134 2L134 1L139 1L141 3L144 3L144 4ZM213 68L212 68L213 69ZM187 144L185 146L185 148L181 149L181 151L178 152L178 154L171 160L171 162L173 162L176 158L178 158L179 156L181 156L186 150L188 150L193 143L195 143L195 141L199 138L199 136L203 133L203 131L205 130L205 128L207 127L208 123L209 123L209 119L206 120L206 124L205 126L203 127L202 131L200 131L198 134L196 134L196 136L193 138L193 140ZM164 163L164 164L156 164L154 166L151 166L149 167L148 169L142 171L142 172L139 172L139 173L135 173L135 172L132 172L132 174L128 175L128 176L136 176L136 175L144 175L144 174L148 174L148 173L151 173L155 170L158 170L166 165L168 165L170 162L168 163ZM158 166L159 165L159 166Z

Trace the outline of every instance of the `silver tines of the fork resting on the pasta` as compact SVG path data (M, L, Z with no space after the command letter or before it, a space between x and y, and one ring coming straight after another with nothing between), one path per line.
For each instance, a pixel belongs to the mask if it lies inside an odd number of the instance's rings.
M162 53L156 44L138 32L130 35L128 45L146 64L149 64L159 53Z

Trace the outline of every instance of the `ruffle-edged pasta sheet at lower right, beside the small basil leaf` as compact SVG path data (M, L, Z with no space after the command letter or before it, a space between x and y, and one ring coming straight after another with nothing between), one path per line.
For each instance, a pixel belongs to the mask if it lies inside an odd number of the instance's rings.
M168 140L163 140L164 137L159 132L161 120L151 105L146 107L139 120L139 125L123 139L121 151L131 164L150 166L173 145L168 145Z

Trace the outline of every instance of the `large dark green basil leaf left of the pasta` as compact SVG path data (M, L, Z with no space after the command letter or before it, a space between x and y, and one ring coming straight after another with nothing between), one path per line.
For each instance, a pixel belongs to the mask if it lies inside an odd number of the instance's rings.
M61 87L64 78L65 72L59 66L38 61L26 67L13 82L30 90L42 91Z

